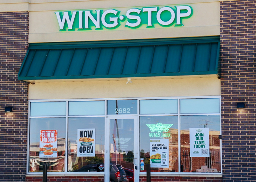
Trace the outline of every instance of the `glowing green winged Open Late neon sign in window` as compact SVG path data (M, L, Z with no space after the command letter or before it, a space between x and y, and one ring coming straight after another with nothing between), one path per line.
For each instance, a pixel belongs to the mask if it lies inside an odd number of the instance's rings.
M162 133L162 132L168 132L169 128L173 124L162 124L157 123L156 125L146 125L149 127L151 132L157 132L157 133L149 133L149 137L171 137L170 133ZM161 135L160 135L161 134Z

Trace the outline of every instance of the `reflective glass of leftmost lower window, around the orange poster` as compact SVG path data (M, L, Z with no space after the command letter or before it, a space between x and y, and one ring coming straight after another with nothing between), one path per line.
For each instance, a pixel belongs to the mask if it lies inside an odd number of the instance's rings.
M43 172L43 164L48 172L65 171L66 118L30 119L30 169L29 172ZM39 158L40 130L58 130L57 158Z

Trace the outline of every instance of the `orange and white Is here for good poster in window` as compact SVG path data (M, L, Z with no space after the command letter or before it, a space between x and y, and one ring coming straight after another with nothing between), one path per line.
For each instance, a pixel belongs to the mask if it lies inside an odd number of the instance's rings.
M57 130L40 130L39 158L57 158L57 139Z

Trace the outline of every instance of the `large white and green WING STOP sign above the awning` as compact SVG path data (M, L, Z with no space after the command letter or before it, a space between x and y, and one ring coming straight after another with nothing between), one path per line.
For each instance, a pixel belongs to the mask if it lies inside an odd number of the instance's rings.
M115 29L119 26L139 28L147 24L146 28L153 28L159 24L163 27L183 26L182 19L193 14L190 6L172 7L143 7L129 9L125 15L121 11L85 10L55 12L60 31L85 31L100 29Z

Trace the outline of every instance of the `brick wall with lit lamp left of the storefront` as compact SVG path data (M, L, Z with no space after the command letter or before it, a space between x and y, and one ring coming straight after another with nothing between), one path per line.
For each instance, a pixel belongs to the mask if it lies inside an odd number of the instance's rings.
M17 74L28 47L28 12L0 13L0 43L0 181L25 181L27 83Z

